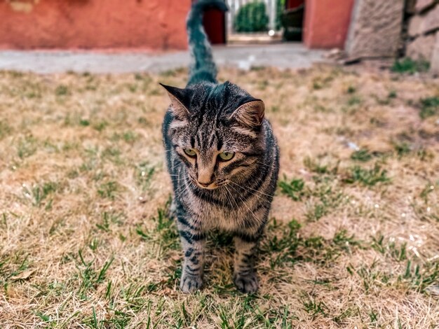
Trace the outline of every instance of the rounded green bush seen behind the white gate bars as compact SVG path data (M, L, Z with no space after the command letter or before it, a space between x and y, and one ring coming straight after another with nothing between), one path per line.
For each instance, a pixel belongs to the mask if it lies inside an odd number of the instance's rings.
M235 20L237 32L260 32L266 31L269 17L266 15L265 3L255 1L239 8Z

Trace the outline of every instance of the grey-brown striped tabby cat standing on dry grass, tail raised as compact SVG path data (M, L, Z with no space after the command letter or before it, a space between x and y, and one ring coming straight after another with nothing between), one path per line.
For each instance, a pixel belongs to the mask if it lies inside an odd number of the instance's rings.
M162 133L173 182L170 209L184 252L180 289L190 293L203 286L206 235L220 230L234 235L236 288L255 293L257 244L276 189L279 152L264 102L229 81L217 81L202 25L208 8L227 10L221 0L192 6L189 82L184 88L162 85L171 103Z

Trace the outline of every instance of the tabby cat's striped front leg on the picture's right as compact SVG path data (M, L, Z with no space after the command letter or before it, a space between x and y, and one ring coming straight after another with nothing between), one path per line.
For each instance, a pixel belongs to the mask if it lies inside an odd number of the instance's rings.
M234 237L234 283L243 293L255 293L259 281L255 269L257 238Z

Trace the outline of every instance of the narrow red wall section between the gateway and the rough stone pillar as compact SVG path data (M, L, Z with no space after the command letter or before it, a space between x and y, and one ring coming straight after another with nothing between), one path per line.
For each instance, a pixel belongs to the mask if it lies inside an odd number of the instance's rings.
M304 43L309 48L344 48L353 0L306 0Z

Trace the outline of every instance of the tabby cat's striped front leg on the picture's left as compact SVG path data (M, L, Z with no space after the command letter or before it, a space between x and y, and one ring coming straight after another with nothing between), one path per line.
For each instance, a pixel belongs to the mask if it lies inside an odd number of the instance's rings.
M183 293L191 293L203 286L203 261L205 235L187 223L185 218L178 218L180 237L184 252L182 279L180 289Z

